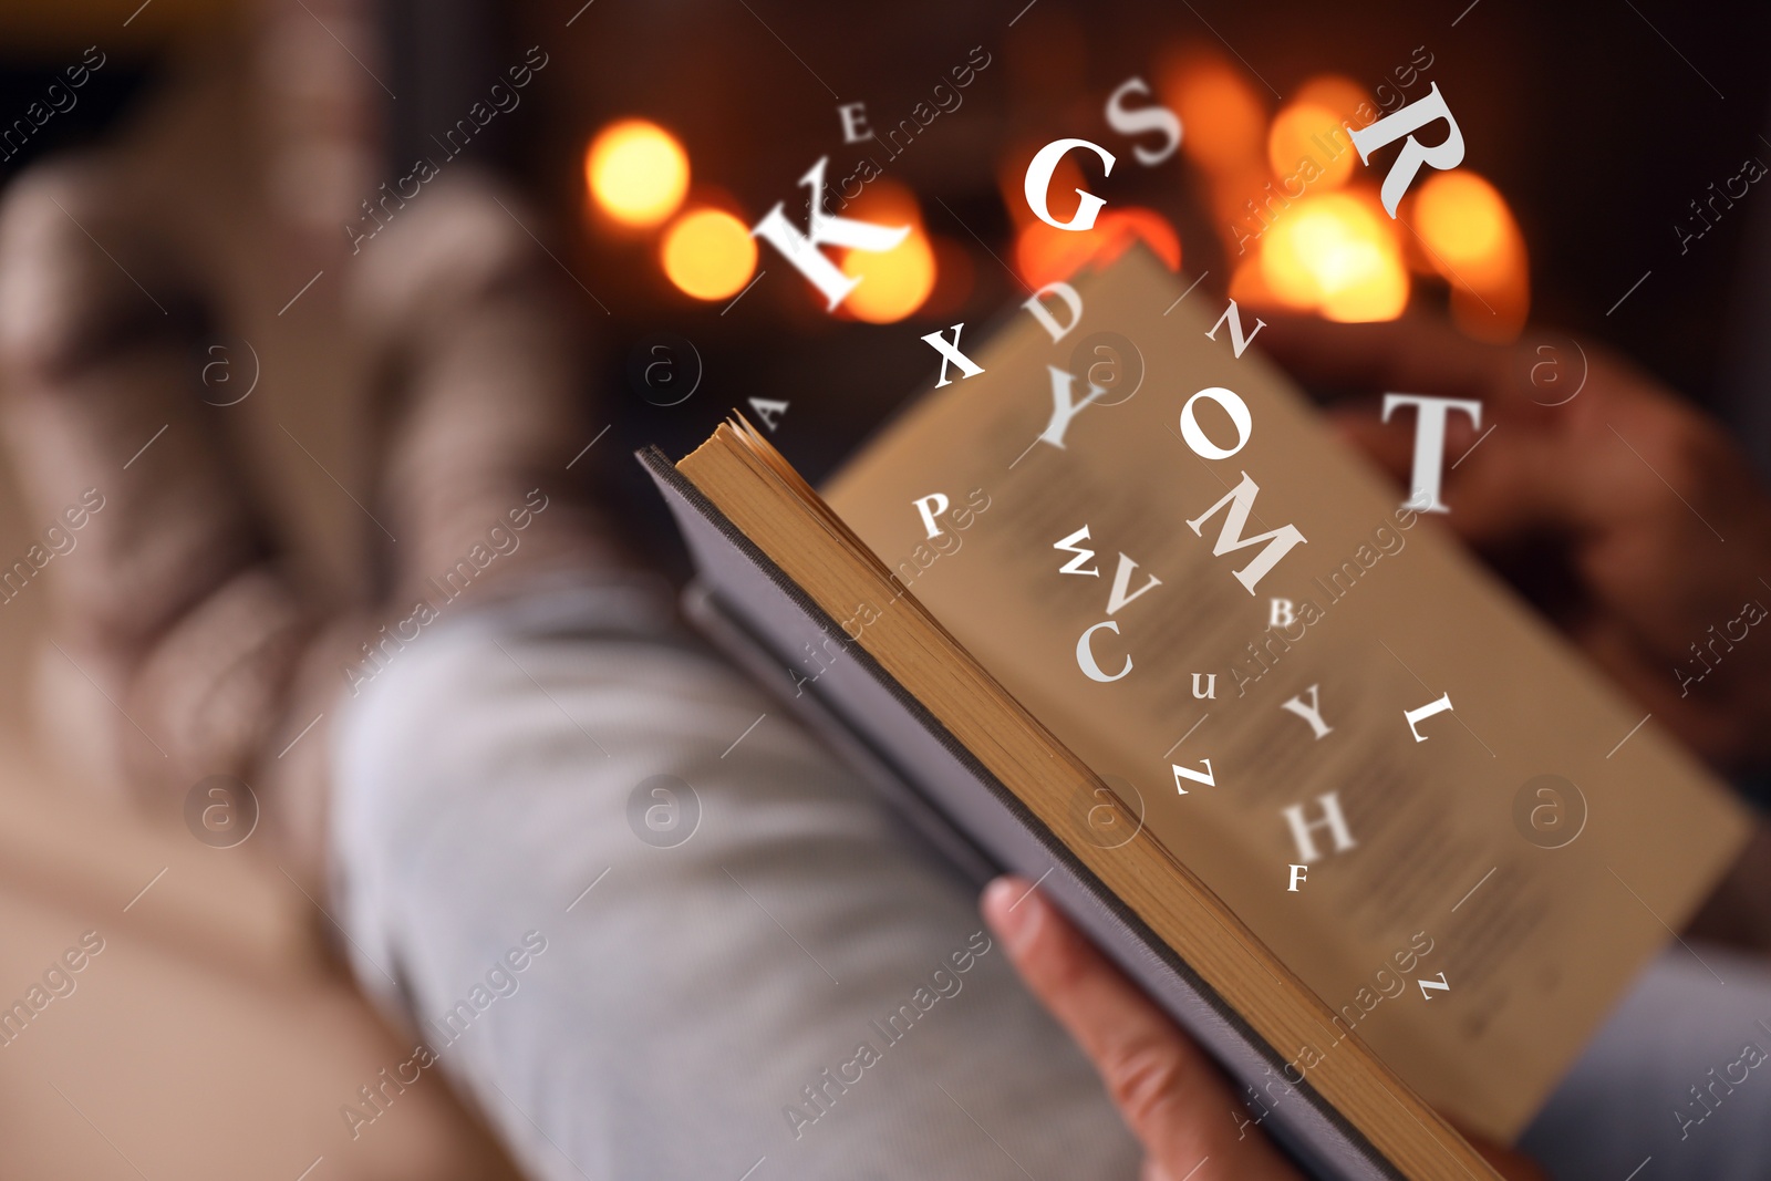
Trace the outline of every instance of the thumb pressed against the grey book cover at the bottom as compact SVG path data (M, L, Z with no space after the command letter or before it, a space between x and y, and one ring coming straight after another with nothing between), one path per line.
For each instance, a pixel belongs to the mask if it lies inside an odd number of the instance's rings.
M1038 891L997 878L983 914L1022 979L1094 1062L1156 1169L1192 1181L1296 1181L1204 1054Z

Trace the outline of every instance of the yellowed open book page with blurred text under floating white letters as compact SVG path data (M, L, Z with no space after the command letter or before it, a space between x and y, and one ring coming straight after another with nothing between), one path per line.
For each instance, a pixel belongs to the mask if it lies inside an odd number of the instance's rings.
M1357 1034L1511 1140L1737 852L1739 807L1259 342L1208 338L1224 303L1176 303L1142 251L1075 287L1061 340L1025 310L967 338L985 372L829 503L1112 784L1077 784L1100 845L1160 841L1341 1015L1302 1073Z

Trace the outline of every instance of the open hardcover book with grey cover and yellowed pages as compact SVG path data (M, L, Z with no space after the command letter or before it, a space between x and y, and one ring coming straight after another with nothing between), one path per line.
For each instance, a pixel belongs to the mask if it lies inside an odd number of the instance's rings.
M1493 1176L1447 1117L1514 1139L1744 820L1222 306L1141 251L1077 294L825 498L742 420L643 452L692 613L1305 1169Z

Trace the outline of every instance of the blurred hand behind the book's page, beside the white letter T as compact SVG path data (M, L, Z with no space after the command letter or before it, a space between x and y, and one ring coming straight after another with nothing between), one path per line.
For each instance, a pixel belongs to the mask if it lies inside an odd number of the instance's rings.
M1643 712L1723 774L1771 770L1771 498L1723 430L1594 343L1465 338L1440 319L1328 324L1263 313L1261 345L1406 496L1415 411L1452 414L1431 513L1488 558ZM1553 342L1553 343L1546 343ZM1578 390L1578 393L1576 393Z

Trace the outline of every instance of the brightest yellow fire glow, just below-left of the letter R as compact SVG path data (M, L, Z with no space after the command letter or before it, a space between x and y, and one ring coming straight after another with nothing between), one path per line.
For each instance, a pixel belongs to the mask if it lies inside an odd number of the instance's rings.
M1316 193L1261 237L1261 278L1280 305L1330 320L1394 320L1408 305L1408 271L1369 197Z

